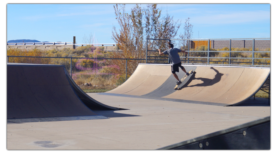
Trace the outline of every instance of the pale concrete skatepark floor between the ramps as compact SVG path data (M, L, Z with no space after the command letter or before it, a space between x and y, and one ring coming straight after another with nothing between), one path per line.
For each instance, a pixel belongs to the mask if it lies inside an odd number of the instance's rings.
M8 150L151 150L270 116L267 99L212 106L88 93L109 119L7 124Z

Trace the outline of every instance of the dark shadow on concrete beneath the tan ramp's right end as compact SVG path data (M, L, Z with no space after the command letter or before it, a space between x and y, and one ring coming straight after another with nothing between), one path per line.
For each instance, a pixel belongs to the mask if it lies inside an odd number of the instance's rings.
M266 98L256 97L254 100L254 97L251 97L247 101L245 101L239 105L236 105L236 106L270 106L270 103L269 103L268 99L266 99Z

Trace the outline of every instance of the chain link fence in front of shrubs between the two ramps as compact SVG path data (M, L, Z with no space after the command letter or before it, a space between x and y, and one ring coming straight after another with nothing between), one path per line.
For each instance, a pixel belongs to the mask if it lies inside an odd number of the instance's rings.
M138 61L144 59L7 56L8 63L64 65L82 90L118 87L131 76Z

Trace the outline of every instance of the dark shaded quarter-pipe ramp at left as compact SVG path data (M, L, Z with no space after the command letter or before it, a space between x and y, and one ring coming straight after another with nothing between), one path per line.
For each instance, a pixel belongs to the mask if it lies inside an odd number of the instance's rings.
M105 119L94 110L119 110L99 103L70 80L64 65L7 64L7 121ZM78 94L80 96L78 96ZM84 99L82 102L81 99ZM89 106L86 106L89 104Z

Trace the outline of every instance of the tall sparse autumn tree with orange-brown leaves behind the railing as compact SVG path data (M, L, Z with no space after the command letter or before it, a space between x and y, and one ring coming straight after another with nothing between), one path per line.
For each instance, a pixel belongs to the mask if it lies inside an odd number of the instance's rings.
M136 4L131 8L131 13L125 11L125 4L114 5L115 16L119 28L113 26L112 39L117 43L123 53L114 53L114 58L142 58L146 56L146 41L151 39L174 39L181 24L174 22L173 17L168 13L161 17L161 9L157 4L148 4L146 8L141 8ZM148 40L148 50L167 49L167 41ZM158 53L149 53L148 56L157 56ZM111 60L112 61L112 60ZM139 61L145 62L145 61ZM112 62L113 64L116 61ZM125 70L122 66L125 63L117 62L121 65L120 73ZM129 74L132 74L138 65L138 61L128 62Z

